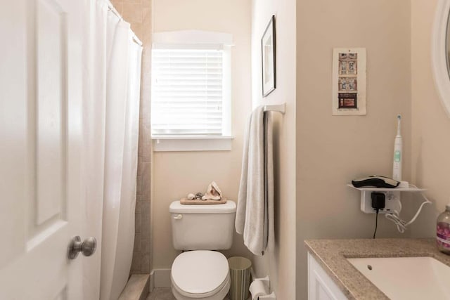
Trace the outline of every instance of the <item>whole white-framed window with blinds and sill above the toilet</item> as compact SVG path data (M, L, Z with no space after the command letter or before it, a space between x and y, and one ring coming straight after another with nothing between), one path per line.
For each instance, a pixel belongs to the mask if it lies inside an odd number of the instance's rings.
M173 150L230 150L231 141L225 148L219 141L231 138L229 45L205 42L203 32L163 33L159 39L171 42L154 43L152 50L154 149L177 143ZM221 146L211 148L205 140Z

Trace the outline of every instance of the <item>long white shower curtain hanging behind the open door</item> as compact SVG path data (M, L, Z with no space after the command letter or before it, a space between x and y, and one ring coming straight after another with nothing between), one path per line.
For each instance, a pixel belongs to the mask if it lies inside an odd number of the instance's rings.
M101 260L83 261L84 299L117 299L134 246L142 47L104 0L88 0L84 57L86 225ZM100 285L100 287L98 287Z

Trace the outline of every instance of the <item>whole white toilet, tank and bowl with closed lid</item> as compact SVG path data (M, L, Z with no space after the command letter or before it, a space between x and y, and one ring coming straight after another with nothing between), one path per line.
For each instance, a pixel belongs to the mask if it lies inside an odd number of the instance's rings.
M174 201L172 219L176 256L170 280L177 300L223 300L230 289L228 261L213 250L230 249L233 242L236 204L180 204Z

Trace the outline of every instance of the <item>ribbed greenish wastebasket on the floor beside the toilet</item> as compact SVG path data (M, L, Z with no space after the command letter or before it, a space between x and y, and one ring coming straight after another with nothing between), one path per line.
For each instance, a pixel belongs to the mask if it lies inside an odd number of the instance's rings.
M250 287L250 269L252 262L245 257L234 256L228 259L230 268L231 287L230 300L248 299L248 288Z

